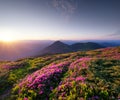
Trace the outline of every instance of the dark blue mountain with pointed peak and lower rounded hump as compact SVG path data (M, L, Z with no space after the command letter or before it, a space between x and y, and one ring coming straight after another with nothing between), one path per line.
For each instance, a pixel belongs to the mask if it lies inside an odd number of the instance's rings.
M104 46L94 42L74 43L72 45L68 45L61 41L55 41L53 44L43 49L41 51L41 55L67 53L67 52L75 52L75 51L88 51L99 48L104 48Z

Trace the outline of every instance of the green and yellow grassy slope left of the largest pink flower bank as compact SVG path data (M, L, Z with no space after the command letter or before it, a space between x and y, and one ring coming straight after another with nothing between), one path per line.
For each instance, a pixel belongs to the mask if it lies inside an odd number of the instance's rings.
M15 62L0 62L0 94L4 95L5 91L8 89L10 90L16 82L20 81L27 74L40 70L42 67L45 67L52 62L56 63L59 60L64 61L64 57L65 56L57 57L53 55L47 57L20 59Z

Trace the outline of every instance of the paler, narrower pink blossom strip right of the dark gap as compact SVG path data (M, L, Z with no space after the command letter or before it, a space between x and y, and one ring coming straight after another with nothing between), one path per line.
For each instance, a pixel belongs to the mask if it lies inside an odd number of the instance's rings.
M66 92L69 93L69 91L74 87L74 84L85 84L85 80L87 77L82 76L80 74L80 71L82 69L87 70L87 62L90 60L91 58L89 57L83 57L70 64L68 70L69 76L67 76L63 81L61 81L59 86L56 88L58 93L57 95L60 95L62 96L62 98L64 98Z

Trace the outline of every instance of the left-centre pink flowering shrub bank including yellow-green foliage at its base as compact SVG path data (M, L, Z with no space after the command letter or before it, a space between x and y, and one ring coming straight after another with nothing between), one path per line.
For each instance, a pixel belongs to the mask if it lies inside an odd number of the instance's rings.
M27 76L13 89L13 93L16 94L14 97L32 100L37 98L47 99L49 93L60 82L62 75L67 71L68 65L69 62L51 65Z

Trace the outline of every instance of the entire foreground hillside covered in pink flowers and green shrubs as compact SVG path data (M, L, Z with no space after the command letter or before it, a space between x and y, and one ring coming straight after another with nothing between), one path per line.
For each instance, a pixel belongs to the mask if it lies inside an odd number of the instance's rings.
M120 47L1 61L0 87L0 100L119 100Z

